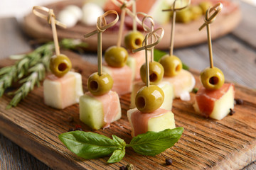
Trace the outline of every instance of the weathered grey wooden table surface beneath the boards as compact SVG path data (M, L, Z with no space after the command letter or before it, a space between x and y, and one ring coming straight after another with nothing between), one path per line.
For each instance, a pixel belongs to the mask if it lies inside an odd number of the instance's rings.
M241 8L242 21L238 28L213 40L214 64L223 70L226 80L256 89L256 8L242 2ZM0 18L0 59L31 50L28 40L15 18ZM208 67L206 43L174 50L174 54L193 69ZM83 57L90 62L97 61L96 53ZM0 162L1 169L50 169L1 134ZM256 169L256 162L244 169Z

